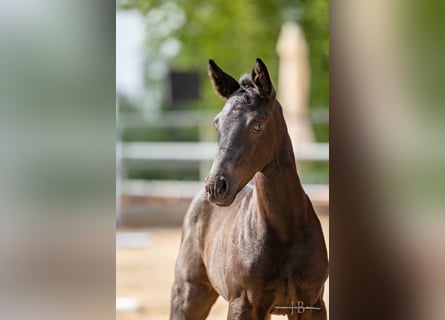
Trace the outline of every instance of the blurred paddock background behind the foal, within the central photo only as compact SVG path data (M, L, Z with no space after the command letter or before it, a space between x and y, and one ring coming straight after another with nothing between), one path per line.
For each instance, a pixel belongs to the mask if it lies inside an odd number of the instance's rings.
M182 219L216 154L224 105L209 59L236 79L257 57L268 66L327 238L328 25L327 0L117 2L118 319L168 316ZM226 308L219 301L211 319Z

